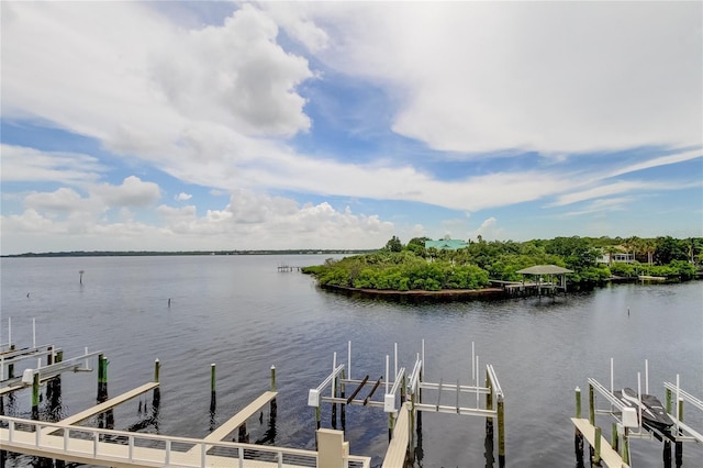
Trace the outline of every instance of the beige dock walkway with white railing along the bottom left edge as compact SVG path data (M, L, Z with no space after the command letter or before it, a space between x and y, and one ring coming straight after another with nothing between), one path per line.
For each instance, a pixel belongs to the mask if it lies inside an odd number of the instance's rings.
M43 428L62 435L47 435ZM211 442L188 437L67 426L44 421L0 415L0 443L11 452L42 452L48 457L94 459L154 466L205 467L208 457L270 463L271 466L316 467L317 452L232 442ZM369 468L370 458L348 456L349 468Z

